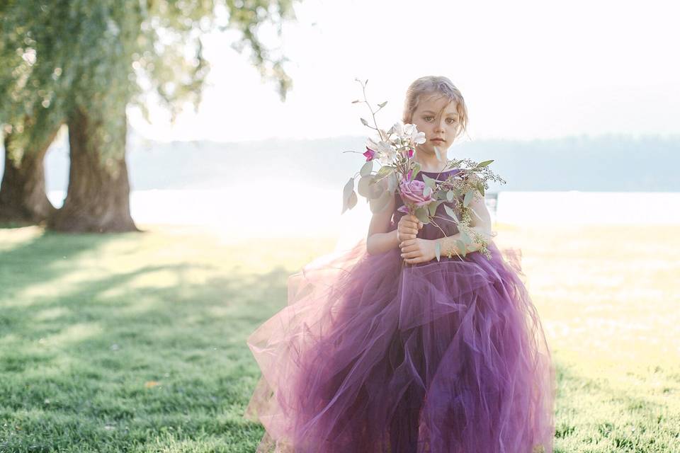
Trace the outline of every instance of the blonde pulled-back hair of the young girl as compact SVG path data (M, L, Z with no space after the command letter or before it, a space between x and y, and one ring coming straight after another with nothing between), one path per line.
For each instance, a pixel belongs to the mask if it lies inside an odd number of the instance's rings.
M424 76L416 79L409 85L406 91L406 100L404 101L404 115L402 120L404 123L413 121L413 113L420 102L421 96L424 94L441 94L455 102L455 109L458 110L458 127L455 132L456 139L463 132L467 132L467 106L465 99L460 94L460 90L444 76Z

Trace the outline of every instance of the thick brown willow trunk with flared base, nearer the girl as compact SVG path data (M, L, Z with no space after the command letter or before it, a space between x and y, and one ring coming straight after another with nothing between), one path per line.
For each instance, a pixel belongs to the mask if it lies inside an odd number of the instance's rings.
M125 112L123 111L123 115ZM126 121L124 122L124 124ZM69 187L64 205L47 219L55 231L114 233L140 231L130 216L130 183L125 164L123 126L120 156L101 164L101 153L93 137L98 125L82 110L69 119Z

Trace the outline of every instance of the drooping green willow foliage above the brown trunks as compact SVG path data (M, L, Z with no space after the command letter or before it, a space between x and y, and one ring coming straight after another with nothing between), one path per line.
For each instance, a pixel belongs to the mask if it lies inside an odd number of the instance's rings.
M146 112L154 93L174 118L185 103L200 103L209 69L201 38L215 29L239 30L232 47L249 47L285 99L292 85L285 57L274 59L257 32L271 23L280 36L291 18L293 0L0 1L0 124L13 134L6 152L21 161L78 111L98 125L88 139L102 164L119 157L121 108Z

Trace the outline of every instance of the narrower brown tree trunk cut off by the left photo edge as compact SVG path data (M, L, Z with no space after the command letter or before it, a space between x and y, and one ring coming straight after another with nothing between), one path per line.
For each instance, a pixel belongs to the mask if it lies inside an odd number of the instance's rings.
M21 163L9 158L11 132L4 138L5 168L0 183L0 222L39 224L55 212L45 193L45 165L47 149L54 141L59 128L37 149L24 151Z

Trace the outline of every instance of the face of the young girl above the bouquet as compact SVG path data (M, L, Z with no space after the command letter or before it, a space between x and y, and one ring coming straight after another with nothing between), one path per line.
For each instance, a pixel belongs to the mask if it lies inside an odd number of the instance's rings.
M426 154L435 154L438 147L443 159L446 150L453 144L458 132L458 110L455 101L451 101L440 93L423 95L413 113L411 122L420 132L425 132L426 141L417 145L417 150ZM438 141L437 139L442 139Z

